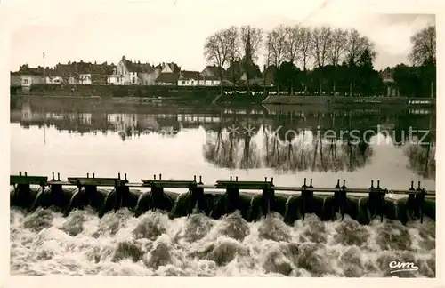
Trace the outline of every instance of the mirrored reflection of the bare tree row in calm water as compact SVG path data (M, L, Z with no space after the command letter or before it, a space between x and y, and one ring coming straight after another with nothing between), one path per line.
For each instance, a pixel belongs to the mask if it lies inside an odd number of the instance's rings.
M372 156L372 149L364 141L356 144L321 138L311 131L287 133L284 138L267 130L253 137L239 136L229 135L222 128L207 133L206 160L231 169L265 166L278 172L352 172L368 164Z

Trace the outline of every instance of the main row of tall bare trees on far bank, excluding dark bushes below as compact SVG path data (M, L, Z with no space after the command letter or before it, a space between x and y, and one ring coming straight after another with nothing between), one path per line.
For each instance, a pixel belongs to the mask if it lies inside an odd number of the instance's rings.
M308 67L311 65L315 68L313 74L319 82L321 92L328 79L328 71L336 70L342 63L355 68L363 57L372 68L372 61L376 57L374 44L355 29L309 28L300 25L280 25L269 32L250 26L232 26L209 36L204 53L206 60L220 68L222 79L223 68L229 67L227 72L236 81L234 63L240 62L248 89L249 80L257 76L255 72L259 68L255 67L255 60L260 57L262 48L265 51L265 66L273 72L280 72L278 75L273 73L272 77L278 89L280 84L287 83L291 92L295 88L295 82L307 82L295 80L307 78ZM304 86L306 90L307 84ZM351 89L352 86L351 81ZM333 89L335 92L336 79L333 81Z

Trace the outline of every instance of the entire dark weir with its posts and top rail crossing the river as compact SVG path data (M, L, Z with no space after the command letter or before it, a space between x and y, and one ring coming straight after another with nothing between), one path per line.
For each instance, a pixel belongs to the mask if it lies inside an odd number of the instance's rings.
M38 207L57 209L68 216L73 209L92 207L102 217L107 212L127 208L136 217L149 210L168 212L171 219L204 213L214 219L239 211L248 221L259 220L271 212L278 212L288 224L304 220L309 213L320 220L343 220L349 215L360 224L384 218L423 222L424 217L435 220L435 191L426 191L418 181L411 181L406 190L380 187L380 180L371 180L369 188L347 188L346 181L337 180L332 188L317 188L312 179L304 178L301 187L276 186L273 178L261 181L217 180L206 185L202 177L193 180L152 179L130 182L126 173L121 178L68 177L48 180L46 176L29 176L27 172L10 176L10 205L35 211ZM32 187L31 187L32 186ZM182 189L172 192L165 189ZM147 191L142 191L148 189ZM255 192L259 191L259 192Z

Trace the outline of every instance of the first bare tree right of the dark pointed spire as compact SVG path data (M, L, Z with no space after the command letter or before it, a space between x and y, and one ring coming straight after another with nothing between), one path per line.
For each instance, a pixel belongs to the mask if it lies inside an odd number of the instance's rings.
M279 69L281 63L286 60L286 28L279 26L273 28L267 34L267 51L271 57L271 63ZM277 83L277 93L279 94L279 83Z

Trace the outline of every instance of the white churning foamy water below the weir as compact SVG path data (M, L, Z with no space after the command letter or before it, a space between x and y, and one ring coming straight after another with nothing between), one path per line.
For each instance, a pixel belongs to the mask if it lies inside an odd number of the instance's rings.
M418 270L390 273L392 261ZM89 209L11 210L12 275L101 276L435 276L435 222L309 215L287 226L277 214L249 223L238 212L169 220L122 209L99 219Z

